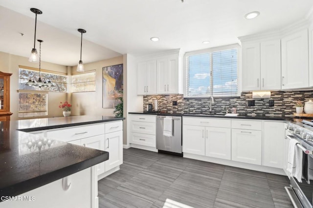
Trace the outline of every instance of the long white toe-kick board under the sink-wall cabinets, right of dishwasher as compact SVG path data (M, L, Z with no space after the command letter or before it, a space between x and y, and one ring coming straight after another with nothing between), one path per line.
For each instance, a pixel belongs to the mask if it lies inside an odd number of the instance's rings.
M183 157L194 159L194 160L201 160L201 161L210 162L210 163L221 164L221 165L225 165L225 166L240 167L240 168L256 170L256 171L261 171L261 172L267 172L267 173L273 173L273 174L278 174L278 175L286 175L284 170L281 168L259 166L259 165L254 165L254 164L241 163L241 162L237 162L237 161L224 160L224 159L213 158L213 157L206 157L206 156L202 156L202 155L194 155L194 154L185 153L185 152L184 152Z

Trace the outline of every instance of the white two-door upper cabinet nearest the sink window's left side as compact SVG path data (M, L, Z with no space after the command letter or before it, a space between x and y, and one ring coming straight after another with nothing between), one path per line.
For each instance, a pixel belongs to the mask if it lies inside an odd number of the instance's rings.
M156 60L156 93L179 93L179 56L171 55Z

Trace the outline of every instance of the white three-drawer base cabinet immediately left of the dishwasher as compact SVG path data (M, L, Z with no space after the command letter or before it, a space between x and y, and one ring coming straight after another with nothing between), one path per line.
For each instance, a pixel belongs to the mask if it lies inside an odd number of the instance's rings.
M140 146L156 147L156 116L129 115L130 143Z

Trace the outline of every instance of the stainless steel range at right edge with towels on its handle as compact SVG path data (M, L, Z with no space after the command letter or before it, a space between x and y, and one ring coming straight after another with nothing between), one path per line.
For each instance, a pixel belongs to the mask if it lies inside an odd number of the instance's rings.
M302 149L304 158L303 166L308 166L310 184L302 179L299 183L294 177L290 177L290 187L285 187L292 205L295 208L313 207L313 122L303 120L302 123L289 123L286 132L286 139L296 139L297 146ZM311 177L310 177L311 176Z

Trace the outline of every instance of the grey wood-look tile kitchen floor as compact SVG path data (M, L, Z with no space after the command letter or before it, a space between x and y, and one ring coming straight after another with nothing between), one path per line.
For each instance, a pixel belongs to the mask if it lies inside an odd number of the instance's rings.
M292 208L287 176L124 149L120 170L98 182L99 208Z

